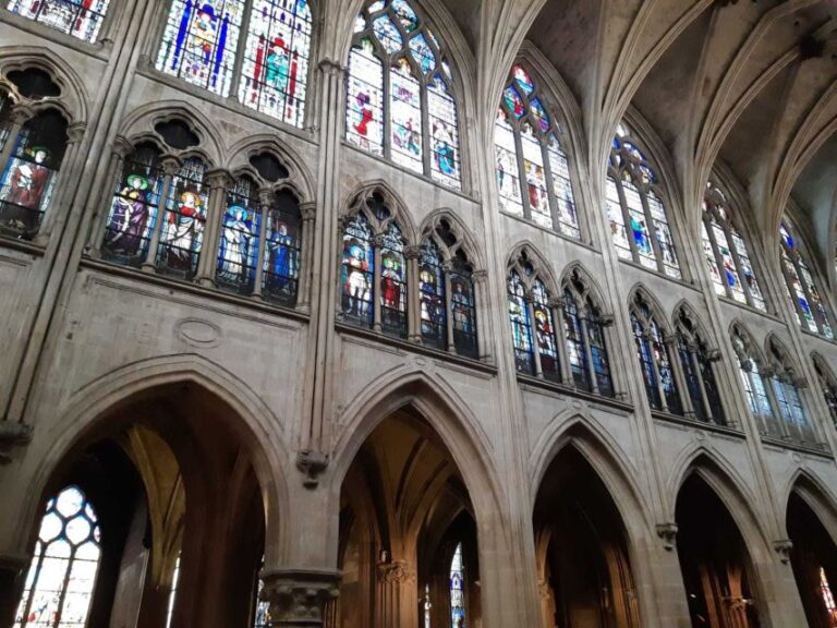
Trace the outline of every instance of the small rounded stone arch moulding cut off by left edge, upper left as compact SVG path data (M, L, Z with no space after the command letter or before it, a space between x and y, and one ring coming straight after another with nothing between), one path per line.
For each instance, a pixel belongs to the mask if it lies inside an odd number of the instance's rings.
M0 73L26 68L43 70L62 88L60 96L45 98L44 105L58 107L71 123L87 121L89 96L84 82L70 63L52 50L39 46L0 48Z

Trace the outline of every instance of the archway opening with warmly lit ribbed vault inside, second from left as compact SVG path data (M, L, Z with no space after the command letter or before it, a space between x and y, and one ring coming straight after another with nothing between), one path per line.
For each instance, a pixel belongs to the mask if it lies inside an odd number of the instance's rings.
M340 597L331 628L451 625L451 561L461 545L464 625L481 616L476 523L461 473L412 408L361 446L341 491Z

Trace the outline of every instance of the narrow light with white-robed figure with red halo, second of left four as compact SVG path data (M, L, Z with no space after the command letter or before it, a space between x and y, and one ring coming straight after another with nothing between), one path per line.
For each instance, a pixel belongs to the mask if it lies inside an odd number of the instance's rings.
M206 165L190 157L172 178L157 251L158 271L182 279L192 279L197 271L208 201L205 173Z

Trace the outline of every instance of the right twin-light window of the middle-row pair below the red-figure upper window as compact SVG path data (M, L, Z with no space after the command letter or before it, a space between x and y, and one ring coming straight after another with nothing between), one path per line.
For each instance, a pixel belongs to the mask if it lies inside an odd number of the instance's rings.
M421 246L418 301L424 345L478 358L473 266L444 218Z

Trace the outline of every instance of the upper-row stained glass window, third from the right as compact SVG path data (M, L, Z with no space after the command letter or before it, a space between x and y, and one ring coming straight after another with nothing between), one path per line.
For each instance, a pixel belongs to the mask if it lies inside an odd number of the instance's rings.
M646 268L680 278L659 178L633 134L620 124L607 168L607 216L616 253Z

